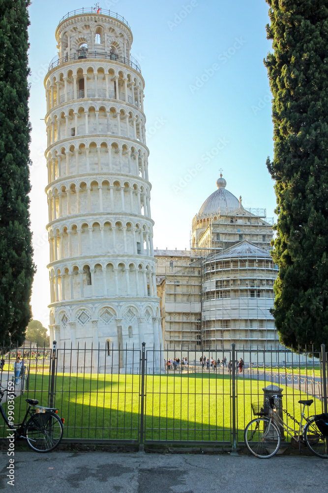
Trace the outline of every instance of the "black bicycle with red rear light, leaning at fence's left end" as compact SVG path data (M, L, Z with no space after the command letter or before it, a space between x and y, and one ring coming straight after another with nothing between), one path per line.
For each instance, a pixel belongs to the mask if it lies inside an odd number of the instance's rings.
M3 388L3 387L1 387ZM9 408L10 417L8 418L1 404L1 400L7 392L8 408L13 406L16 394L8 388L0 389L0 414L7 424L8 428L14 431L14 438L26 439L30 448L35 452L50 452L60 443L63 435L64 418L60 418L57 413L58 409L52 407L37 406L39 403L36 399L25 399L30 405L22 423L12 423L12 409ZM34 406L33 410L30 410ZM9 413L8 413L9 414ZM30 416L29 421L27 418Z

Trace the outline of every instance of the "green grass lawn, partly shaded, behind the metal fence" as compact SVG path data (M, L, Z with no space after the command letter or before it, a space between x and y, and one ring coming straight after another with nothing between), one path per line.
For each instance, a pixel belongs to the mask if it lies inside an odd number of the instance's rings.
M240 441L245 425L253 419L251 402L263 402L262 387L267 385L268 381L237 379ZM27 397L47 406L48 389L49 375L31 373L29 391L15 399L15 421L24 416ZM229 375L147 376L145 393L146 440L231 442ZM139 394L139 375L57 374L56 407L65 418L64 438L138 440ZM298 400L304 395L290 387L283 389L283 408L298 420ZM319 413L321 402L316 404ZM313 405L309 414L315 414ZM0 436L3 433L0 430Z

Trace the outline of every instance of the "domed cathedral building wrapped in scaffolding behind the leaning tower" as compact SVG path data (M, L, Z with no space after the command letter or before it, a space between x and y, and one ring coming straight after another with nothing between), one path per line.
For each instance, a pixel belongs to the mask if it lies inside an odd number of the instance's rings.
M193 218L190 251L155 250L164 347L278 349L273 219L243 208L222 175L216 185Z

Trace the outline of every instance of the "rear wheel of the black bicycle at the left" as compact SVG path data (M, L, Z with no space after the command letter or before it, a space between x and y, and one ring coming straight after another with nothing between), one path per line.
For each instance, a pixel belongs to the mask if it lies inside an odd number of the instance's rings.
M30 448L36 452L50 452L60 443L63 424L57 414L33 414L25 427L25 434Z

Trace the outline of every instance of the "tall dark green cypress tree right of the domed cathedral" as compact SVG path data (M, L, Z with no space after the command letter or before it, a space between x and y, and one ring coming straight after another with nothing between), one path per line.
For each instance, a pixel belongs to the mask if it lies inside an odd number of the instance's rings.
M279 266L272 313L288 347L328 347L328 2L267 0L273 54L275 179Z

